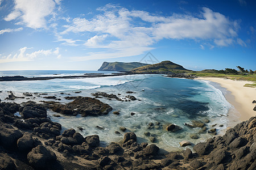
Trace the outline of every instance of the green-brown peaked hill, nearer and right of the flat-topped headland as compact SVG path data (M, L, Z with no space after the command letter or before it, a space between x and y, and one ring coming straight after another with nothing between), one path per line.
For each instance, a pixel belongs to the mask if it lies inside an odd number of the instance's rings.
M158 74L168 74L168 73L185 73L191 70L185 69L181 65L177 65L171 61L162 61L153 65L147 65L139 67L137 69L131 70L132 73L158 73Z

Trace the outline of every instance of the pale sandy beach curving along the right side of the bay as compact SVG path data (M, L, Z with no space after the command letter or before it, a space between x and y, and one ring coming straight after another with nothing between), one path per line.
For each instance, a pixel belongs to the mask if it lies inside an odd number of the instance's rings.
M255 104L252 103L253 100L256 100L256 88L243 87L246 83L251 82L223 78L200 77L198 79L216 82L219 83L221 87L226 88L226 90L230 92L225 95L226 100L241 114L239 116L241 121L246 121L256 115L256 112L253 111Z

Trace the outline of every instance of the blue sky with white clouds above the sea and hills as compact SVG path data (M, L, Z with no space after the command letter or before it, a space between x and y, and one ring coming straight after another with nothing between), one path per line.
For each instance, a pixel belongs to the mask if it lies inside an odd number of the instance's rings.
M170 60L256 70L256 1L0 0L0 70Z

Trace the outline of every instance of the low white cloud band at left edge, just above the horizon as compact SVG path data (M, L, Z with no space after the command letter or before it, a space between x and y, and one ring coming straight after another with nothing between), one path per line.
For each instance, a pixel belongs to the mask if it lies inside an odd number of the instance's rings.
M55 51L52 52L52 50L38 50L32 53L27 53L26 51L28 49L26 46L19 49L19 53L16 54L9 54L8 56L3 56L0 58L0 63L7 63L7 62L22 62L22 61L32 61L35 58L38 58L40 56L50 56L50 55L56 55L57 58L59 58L59 48L56 48ZM2 56L2 55L1 55Z

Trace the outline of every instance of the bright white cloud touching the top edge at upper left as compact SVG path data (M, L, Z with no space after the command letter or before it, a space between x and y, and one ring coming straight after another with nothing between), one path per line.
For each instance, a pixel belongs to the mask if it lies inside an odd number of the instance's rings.
M57 4L60 1L56 1ZM53 14L56 6L53 0L15 0L13 12L5 20L21 19L27 27L46 28L46 16Z

